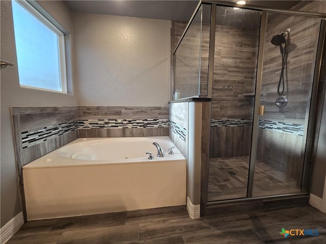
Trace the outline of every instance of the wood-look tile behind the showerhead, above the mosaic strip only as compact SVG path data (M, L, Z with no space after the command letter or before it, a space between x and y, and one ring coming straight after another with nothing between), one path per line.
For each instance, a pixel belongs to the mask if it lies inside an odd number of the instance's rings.
M265 39L262 105L265 119L304 125L311 97L320 20L284 14L268 14ZM287 36L287 83L284 95L288 104L278 108L277 87L282 67L280 48L270 43L273 36L291 29ZM282 88L282 87L281 87Z

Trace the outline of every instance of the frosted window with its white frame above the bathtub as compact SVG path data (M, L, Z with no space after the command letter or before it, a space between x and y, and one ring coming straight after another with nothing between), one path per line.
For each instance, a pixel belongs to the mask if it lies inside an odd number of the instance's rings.
M67 93L64 34L25 1L12 1L21 87Z

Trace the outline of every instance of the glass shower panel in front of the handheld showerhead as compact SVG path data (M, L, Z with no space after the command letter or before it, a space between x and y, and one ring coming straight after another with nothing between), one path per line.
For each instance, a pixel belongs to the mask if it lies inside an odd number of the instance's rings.
M253 196L301 191L319 26L268 14Z

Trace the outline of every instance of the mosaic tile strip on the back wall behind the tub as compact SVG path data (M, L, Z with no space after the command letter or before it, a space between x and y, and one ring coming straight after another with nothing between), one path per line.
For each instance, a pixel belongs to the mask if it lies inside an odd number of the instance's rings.
M78 119L79 129L169 127L168 119Z

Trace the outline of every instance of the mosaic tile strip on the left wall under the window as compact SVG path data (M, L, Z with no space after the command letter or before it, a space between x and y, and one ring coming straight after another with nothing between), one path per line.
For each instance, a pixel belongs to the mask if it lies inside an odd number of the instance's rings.
M70 121L61 124L24 131L21 133L22 148L36 145L51 138L59 137L65 133L78 129L77 121Z

